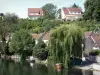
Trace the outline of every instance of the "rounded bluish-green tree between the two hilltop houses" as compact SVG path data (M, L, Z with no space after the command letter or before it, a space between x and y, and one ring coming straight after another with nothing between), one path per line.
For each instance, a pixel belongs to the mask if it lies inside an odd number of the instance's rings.
M51 3L48 3L42 7L45 19L55 19L57 7Z

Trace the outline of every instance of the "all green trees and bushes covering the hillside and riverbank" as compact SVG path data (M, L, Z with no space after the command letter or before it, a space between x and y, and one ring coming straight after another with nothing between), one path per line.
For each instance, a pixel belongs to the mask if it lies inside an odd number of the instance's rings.
M72 7L79 7L74 4ZM86 0L83 19L63 21L61 9L49 3L42 7L44 15L37 20L20 19L15 14L0 14L0 43L4 55L20 54L22 58L32 55L40 60L63 63L68 67L70 57L82 57L83 31L100 32L100 1ZM49 45L30 34L52 31ZM13 36L12 36L13 35ZM99 54L91 52L90 54Z

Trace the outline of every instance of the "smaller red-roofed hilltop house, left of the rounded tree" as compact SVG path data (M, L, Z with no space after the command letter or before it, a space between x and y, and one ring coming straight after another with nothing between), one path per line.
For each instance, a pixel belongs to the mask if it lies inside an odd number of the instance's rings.
M42 8L28 8L28 17L30 19L38 19L43 15Z

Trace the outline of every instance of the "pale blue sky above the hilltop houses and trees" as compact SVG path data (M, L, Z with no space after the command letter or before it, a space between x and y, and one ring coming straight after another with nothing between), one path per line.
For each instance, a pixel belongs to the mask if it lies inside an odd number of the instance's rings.
M28 8L41 8L47 3L53 3L58 8L70 7L74 3L84 11L85 0L0 0L0 13L15 13L20 18L28 17Z

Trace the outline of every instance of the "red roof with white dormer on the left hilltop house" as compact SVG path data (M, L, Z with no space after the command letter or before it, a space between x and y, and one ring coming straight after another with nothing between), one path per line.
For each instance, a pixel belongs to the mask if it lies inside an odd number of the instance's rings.
M28 16L42 16L42 15L43 15L42 8L28 8Z

